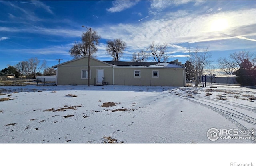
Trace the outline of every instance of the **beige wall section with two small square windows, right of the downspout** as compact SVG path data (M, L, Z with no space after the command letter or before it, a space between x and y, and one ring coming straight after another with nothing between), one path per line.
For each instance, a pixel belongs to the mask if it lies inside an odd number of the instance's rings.
M134 78L134 70L140 70L140 78ZM158 78L152 71L158 70ZM114 68L115 85L184 86L183 68Z

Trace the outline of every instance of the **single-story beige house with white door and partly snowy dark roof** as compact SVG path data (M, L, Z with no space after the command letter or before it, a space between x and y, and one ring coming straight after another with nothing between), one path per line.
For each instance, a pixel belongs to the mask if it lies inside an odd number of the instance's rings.
M56 85L88 84L88 57L58 65ZM178 62L100 61L90 58L90 85L185 86L185 66Z

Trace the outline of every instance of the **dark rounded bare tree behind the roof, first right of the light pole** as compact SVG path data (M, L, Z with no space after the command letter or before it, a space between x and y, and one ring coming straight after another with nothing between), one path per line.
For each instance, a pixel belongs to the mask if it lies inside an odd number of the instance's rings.
M119 61L126 48L126 43L121 39L107 41L106 52L113 57L112 61Z

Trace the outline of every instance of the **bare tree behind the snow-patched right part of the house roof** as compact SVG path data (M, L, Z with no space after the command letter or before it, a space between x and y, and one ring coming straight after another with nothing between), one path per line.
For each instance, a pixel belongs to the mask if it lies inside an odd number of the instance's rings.
M159 44L154 41L148 46L147 51L152 55L155 62L166 62L169 56L166 56L167 44Z

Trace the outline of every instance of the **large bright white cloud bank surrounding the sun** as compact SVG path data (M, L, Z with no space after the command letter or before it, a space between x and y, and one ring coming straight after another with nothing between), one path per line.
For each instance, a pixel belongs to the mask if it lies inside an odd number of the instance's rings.
M179 17L176 17L178 15ZM121 38L130 50L145 49L152 41L179 45L179 43L202 41L209 43L222 39L238 39L237 36L252 36L246 39L254 41L255 16L255 9L200 15L180 10L170 12L160 19L147 19L134 24L104 25L96 30L104 39ZM219 33L211 32L211 24L216 19L226 19L228 27ZM231 45L229 47L234 49Z

